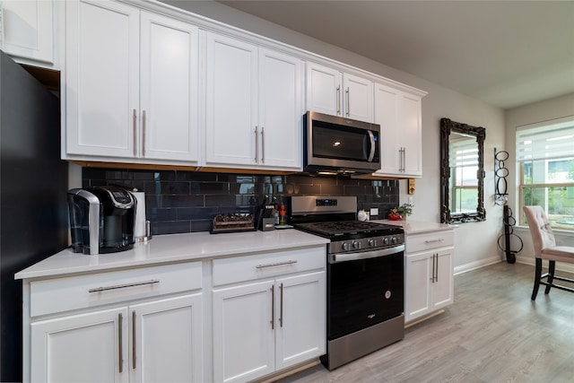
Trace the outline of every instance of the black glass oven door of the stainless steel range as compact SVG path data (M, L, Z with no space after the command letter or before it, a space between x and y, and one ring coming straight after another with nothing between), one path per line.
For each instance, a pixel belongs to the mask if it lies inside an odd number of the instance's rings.
M404 245L332 257L327 267L329 340L404 313Z

